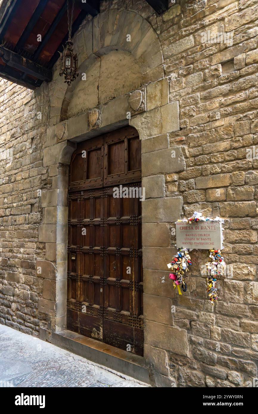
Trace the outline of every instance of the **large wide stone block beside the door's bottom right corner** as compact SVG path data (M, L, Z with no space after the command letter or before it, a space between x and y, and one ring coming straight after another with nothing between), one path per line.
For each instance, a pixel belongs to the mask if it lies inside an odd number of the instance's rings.
M188 338L184 329L147 320L144 336L148 345L188 356Z

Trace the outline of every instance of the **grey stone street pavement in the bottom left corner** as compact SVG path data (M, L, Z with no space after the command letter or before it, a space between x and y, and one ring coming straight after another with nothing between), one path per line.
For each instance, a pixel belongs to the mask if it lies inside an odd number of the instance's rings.
M48 342L0 325L0 385L13 387L146 387Z

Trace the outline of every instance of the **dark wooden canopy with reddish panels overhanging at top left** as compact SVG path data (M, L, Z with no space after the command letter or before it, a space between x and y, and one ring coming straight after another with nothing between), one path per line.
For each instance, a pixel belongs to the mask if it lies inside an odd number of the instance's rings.
M72 35L101 0L75 0ZM147 0L161 14L169 0ZM39 36L41 35L41 36ZM52 79L58 51L68 40L67 0L2 0L0 7L0 77L35 89Z

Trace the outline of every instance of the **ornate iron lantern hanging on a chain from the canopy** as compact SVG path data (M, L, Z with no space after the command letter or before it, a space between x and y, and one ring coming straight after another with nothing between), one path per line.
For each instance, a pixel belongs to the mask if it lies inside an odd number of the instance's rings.
M59 75L65 75L65 83L68 88L71 87L71 83L79 76L78 72L78 57L77 53L73 53L73 43L71 39L72 32L72 14L73 14L74 0L72 2L71 17L69 17L68 0L67 0L67 15L68 15L68 41L65 44L63 53L60 53L60 71Z

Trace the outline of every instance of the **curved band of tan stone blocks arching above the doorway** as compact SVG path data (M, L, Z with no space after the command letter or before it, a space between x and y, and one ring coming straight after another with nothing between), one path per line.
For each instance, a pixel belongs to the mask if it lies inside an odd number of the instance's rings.
M130 39L128 35L130 35ZM75 48L77 50L79 48L82 56L80 58L80 73L87 73L87 70L101 56L112 51L123 51L132 54L137 61L143 85L163 77L163 55L158 36L147 20L136 12L114 9L98 14L76 34L74 43ZM55 78L56 85L53 89L50 108L50 125L65 119L72 94L80 82L79 77L69 89L66 87L64 79L58 76L58 70L55 73Z

